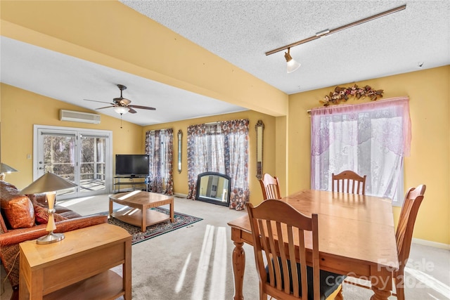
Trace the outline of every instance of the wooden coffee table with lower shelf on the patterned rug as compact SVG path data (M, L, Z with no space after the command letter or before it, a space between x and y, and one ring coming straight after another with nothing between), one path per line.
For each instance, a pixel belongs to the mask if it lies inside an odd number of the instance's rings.
M129 207L113 212L113 202ZM161 205L170 205L170 214L162 214L151 209ZM142 190L134 190L129 193L110 195L109 216L134 226L141 226L141 231L146 232L147 226L169 220L174 223L174 197L150 193Z

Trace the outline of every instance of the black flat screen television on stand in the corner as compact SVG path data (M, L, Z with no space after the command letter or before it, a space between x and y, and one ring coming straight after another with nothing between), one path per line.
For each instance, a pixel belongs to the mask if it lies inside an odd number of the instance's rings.
M148 176L148 155L117 154L115 155L116 176Z

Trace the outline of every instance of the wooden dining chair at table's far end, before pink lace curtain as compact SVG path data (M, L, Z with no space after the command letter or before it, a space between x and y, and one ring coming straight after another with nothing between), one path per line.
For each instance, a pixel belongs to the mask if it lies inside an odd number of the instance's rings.
M366 175L359 176L354 171L331 174L331 191L366 195Z

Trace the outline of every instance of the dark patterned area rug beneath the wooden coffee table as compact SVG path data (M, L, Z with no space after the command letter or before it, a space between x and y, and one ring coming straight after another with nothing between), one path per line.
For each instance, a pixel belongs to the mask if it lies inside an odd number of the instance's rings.
M155 207L153 209L155 209L156 211L162 212L163 214L169 215L169 209L165 209L162 207ZM105 214L108 214L108 212L106 212ZM185 226L190 226L191 224L193 224L195 222L203 220L196 216L189 216L188 214L181 214L176 211L174 212L174 219L175 219L174 223L170 223L170 220L167 220L167 221L155 224L155 225L147 226L147 230L145 233L141 232L141 227L124 223L115 218L108 219L108 223L120 226L120 227L124 228L125 230L127 230L129 232L129 234L133 236L133 238L131 240L131 244L137 244L139 242L149 240L152 237L157 237L158 235L163 235L165 233L169 233L173 230L176 230L176 229L179 229L179 228L182 228Z

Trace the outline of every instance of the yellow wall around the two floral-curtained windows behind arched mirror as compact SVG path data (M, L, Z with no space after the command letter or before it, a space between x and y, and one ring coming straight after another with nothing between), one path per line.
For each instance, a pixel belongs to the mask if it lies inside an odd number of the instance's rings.
M249 162L248 162L248 174L249 174L249 187L250 187L250 202L252 203L259 203L262 200L262 192L261 188L259 186L259 181L256 177L256 130L255 130L255 124L259 119L262 120L264 123L264 152L263 152L263 159L264 159L264 165L263 170L266 173L275 174L276 172L276 161L275 161L275 147L274 147L274 141L275 141L275 133L276 133L276 118L271 117L269 115L264 115L260 112L255 112L253 110L248 110L245 112L235 112L231 114L226 115L218 115L218 116L212 116L212 117L203 117L198 119L187 119L184 121L179 122L172 122L172 123L164 123L164 124L158 124L158 125L152 125L152 126L145 126L143 127L143 140L145 140L145 134L146 131L149 130L157 130L157 129L169 129L172 128L174 130L174 192L180 193L180 194L187 194L188 193L188 163L187 163L187 153L186 153L186 146L187 146L187 138L186 133L188 126L194 125L194 124L203 124L203 123L209 123L209 122L217 122L217 121L227 121L232 119L249 119L250 120L250 130L249 130ZM178 162L178 146L177 141L178 138L176 137L176 133L181 129L183 132L183 145L182 145L182 151L181 151L181 174L178 173L177 164Z

